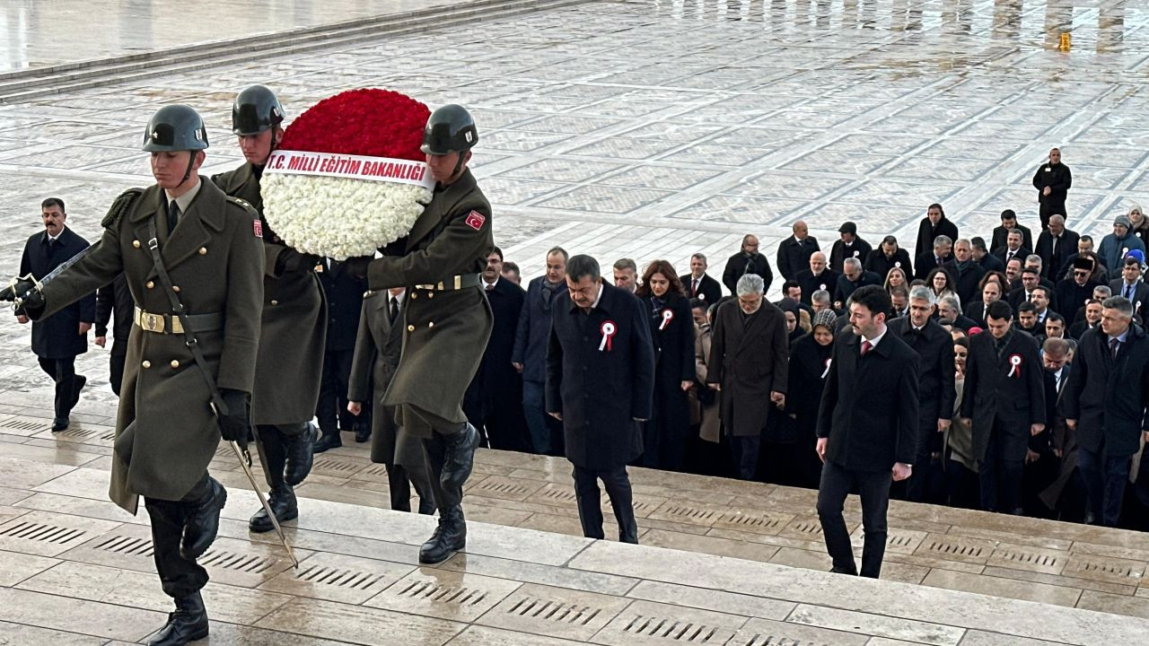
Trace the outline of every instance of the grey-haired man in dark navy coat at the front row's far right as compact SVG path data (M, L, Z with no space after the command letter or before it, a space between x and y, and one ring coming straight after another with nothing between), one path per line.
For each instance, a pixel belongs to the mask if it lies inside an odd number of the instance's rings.
M1129 459L1149 441L1149 336L1132 324L1129 301L1102 307L1101 329L1081 336L1064 406L1094 518L1117 526Z

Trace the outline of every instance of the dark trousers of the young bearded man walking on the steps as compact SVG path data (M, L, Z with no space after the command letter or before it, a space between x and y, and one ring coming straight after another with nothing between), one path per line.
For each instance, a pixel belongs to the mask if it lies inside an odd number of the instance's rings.
M833 462L822 466L822 483L818 486L818 520L826 539L826 552L834 561L834 568L847 572L857 571L850 532L846 530L842 506L850 490L857 487L862 498L862 529L865 540L862 546L862 576L878 578L881 559L886 554L886 509L889 507L889 471L856 471Z

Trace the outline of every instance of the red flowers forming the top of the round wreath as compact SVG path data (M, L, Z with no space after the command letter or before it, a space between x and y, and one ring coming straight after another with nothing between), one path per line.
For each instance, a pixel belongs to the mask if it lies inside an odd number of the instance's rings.
M391 90L348 90L311 106L284 132L285 151L423 161L431 110Z

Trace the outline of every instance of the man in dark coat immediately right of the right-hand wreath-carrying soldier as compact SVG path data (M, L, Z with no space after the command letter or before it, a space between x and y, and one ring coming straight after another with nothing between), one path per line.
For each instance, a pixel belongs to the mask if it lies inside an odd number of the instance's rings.
M515 331L526 292L502 278L502 249L487 254L483 290L491 303L494 326L479 370L463 397L463 413L491 448L531 451L531 436L523 416L523 377L511 364Z

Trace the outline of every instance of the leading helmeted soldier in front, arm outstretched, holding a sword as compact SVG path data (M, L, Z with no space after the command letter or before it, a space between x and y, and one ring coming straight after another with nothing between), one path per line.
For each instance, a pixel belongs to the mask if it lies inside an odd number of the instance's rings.
M156 184L116 199L100 241L43 285L17 280L0 299L49 316L123 271L137 303L128 348L109 495L134 514L144 497L163 591L176 612L149 643L208 635L195 562L215 540L223 486L208 476L221 434L244 441L263 298L256 213L199 175L203 120L182 105L148 122L144 149Z

